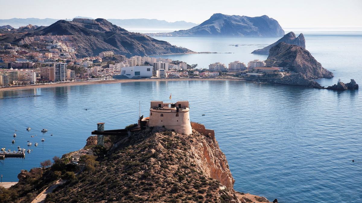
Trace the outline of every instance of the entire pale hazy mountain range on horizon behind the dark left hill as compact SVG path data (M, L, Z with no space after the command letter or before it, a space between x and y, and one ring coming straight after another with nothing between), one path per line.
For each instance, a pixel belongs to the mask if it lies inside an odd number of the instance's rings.
M88 18L89 17L82 17L77 16L74 18ZM72 18L73 19L73 18ZM11 25L13 27L20 27L26 25L38 25L38 26L49 26L56 21L61 19L53 19L53 18L11 18L11 19L3 19L0 20L0 26L2 25ZM64 20L64 19L63 19ZM71 20L71 18L69 18ZM126 28L189 28L197 26L198 24L192 22L185 22L185 21L176 21L176 22L167 22L164 20L156 20L156 19L107 19L109 22L113 23L114 25Z

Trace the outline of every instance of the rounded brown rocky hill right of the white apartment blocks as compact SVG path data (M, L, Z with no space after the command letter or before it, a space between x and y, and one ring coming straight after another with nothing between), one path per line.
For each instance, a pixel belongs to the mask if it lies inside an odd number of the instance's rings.
M333 77L333 73L323 68L305 48L285 42L271 47L265 62L269 67L283 67L294 73L302 73L307 79Z

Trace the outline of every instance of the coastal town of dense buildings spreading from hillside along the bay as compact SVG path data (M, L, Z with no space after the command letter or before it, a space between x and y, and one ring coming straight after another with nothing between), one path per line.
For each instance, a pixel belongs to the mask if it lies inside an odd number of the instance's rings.
M29 25L31 27L31 25ZM76 57L77 47L71 36L36 36L21 39L18 44L0 44L0 87L45 83L98 81L140 78L258 78L268 72L283 77L283 68L268 67L264 61L247 64L233 61L215 62L209 69L197 64L155 58L118 55L103 51L93 57Z

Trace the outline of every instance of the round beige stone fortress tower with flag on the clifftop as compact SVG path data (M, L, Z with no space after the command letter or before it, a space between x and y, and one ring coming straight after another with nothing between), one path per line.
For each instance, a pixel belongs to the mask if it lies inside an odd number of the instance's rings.
M164 103L151 101L150 117L142 118L147 126L159 126L177 133L190 135L192 133L189 102Z

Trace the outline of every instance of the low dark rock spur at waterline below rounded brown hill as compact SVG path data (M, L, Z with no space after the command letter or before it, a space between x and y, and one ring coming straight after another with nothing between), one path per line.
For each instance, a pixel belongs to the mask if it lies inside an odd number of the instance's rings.
M295 85L295 86L304 86L304 87L322 87L319 83L308 79L306 75L303 73L292 73L290 75L286 75L282 78L273 78L267 79L266 82L281 84L281 85Z

